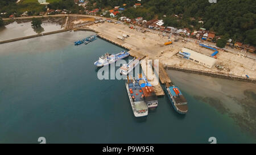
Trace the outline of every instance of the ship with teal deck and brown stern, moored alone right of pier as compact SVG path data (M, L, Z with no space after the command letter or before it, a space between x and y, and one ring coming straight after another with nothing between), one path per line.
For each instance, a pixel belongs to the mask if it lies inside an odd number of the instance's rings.
M174 110L177 111L179 114L186 114L188 112L187 100L182 95L180 89L173 83L166 83L165 90L168 98L172 102Z

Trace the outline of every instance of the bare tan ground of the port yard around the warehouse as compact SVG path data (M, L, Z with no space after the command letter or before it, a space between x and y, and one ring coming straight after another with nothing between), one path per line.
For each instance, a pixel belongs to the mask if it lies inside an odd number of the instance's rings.
M141 32L135 29L129 28L128 25L122 23L98 23L92 24L89 28L97 31L100 35L118 43L124 47L129 47L132 50L138 51L142 55L148 56L151 59L159 59L159 62L165 65L180 66L182 68L199 69L210 72L228 73L234 76L245 77L247 74L250 78L256 78L256 66L255 60L251 58L238 57L233 53L219 51L217 56L217 64L225 66L230 69L230 72L226 70L218 70L217 68L206 68L203 65L196 64L185 59L177 57L176 53L181 48L187 47L193 49L193 51L202 53L209 56L213 53L212 50L200 47L195 43L195 40L189 39L187 43L182 43L182 39L174 41L171 45L164 45L168 41L168 36L162 36L152 32ZM123 34L129 35L124 41L117 39L117 36ZM207 43L208 44L208 43Z

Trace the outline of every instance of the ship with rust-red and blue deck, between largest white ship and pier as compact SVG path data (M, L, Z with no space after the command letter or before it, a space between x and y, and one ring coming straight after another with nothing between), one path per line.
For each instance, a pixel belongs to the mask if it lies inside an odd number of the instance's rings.
M139 74L139 85L141 86L142 93L144 94L144 101L147 103L148 108L158 107L158 97L155 94L154 88L147 79L142 78L142 74Z

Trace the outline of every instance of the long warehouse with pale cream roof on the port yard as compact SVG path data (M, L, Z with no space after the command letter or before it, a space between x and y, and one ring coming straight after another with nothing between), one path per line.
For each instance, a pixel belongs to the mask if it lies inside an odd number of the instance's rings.
M197 64L204 65L208 68L212 68L217 61L215 58L202 55L201 53L192 51L191 49L187 48L181 49L181 51L178 53L178 56L196 62Z

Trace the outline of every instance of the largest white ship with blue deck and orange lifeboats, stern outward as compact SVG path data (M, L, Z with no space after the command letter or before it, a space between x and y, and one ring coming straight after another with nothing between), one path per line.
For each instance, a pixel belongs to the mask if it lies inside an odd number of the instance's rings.
M139 82L134 78L126 80L126 89L130 99L131 108L133 108L133 114L135 117L147 116L148 107L143 99L143 93Z

